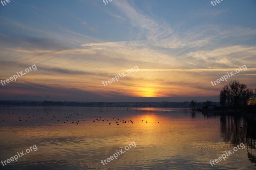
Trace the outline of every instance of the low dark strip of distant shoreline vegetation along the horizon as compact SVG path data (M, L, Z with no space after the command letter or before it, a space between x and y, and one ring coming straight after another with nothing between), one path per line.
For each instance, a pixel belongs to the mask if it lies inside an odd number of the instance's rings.
M219 106L219 102L212 102ZM201 108L204 102L197 102L196 107ZM184 102L72 102L72 101L24 101L0 100L0 106L82 106L82 107L174 107L191 108L188 101Z

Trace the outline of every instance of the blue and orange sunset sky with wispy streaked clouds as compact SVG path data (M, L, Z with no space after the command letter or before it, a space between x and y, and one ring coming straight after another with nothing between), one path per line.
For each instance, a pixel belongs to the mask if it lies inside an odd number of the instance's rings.
M36 69L0 84L0 100L218 101L231 80L256 88L255 18L254 0L12 0L0 80Z

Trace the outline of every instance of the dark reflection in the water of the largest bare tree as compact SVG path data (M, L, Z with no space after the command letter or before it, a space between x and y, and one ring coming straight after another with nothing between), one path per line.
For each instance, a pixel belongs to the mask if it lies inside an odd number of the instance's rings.
M220 133L224 142L233 147L246 140L246 120L242 117L220 115Z

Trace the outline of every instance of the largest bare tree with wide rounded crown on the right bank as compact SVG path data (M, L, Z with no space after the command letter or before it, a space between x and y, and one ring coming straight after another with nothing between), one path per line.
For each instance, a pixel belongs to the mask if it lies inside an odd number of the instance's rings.
M243 101L243 91L247 86L243 83L239 83L238 80L232 80L228 82L228 85L225 85L222 90L227 96L227 100L235 108L240 106L240 103Z

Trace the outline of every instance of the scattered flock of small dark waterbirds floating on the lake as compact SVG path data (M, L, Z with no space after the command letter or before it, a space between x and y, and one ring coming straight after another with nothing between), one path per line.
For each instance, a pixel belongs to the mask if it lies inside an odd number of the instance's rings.
M3 112L4 113L4 111L2 111L2 110L0 110L1 112ZM14 110L15 111L15 110ZM25 110L26 111L26 110ZM38 110L36 111L36 112L38 112ZM102 112L103 111L100 111L100 113L102 114ZM13 114L13 112L12 113L9 113L9 112L7 112L7 114L8 115L11 115L11 114ZM106 113L105 113L106 114ZM22 115L24 115L24 112L22 113ZM33 114L31 114L30 115L30 113L25 113L25 115L28 115L28 116L35 116L35 115L33 115ZM62 115L62 113L59 113L59 115ZM21 116L21 117L28 117L28 116ZM51 121L60 121L60 119L56 119L56 115L55 114L51 114L51 113L47 113L46 112L46 110L45 110L45 114L44 115L41 115L41 120L43 120L43 119L45 119L45 116L51 116ZM78 125L78 123L81 121L81 122L85 122L85 119L83 119L83 118L80 118L80 119L76 119L75 118L75 116L83 116L82 114L77 114L76 112L75 113L72 113L72 114L63 114L63 117L65 117L65 119L67 119L67 120L65 120L65 122L63 122L63 123L68 123L68 122L71 122L71 123L76 123L77 125ZM19 121L22 121L21 120L21 117L19 116ZM58 117L58 116L57 116ZM9 118L9 116L7 116L7 119ZM22 119L23 119L22 118ZM96 123L96 122L100 122L100 121L102 121L102 122L105 122L105 121L108 121L108 119L107 118L101 118L101 117L99 117L98 116L98 118L97 118L97 116L91 116L91 118L94 118L95 120L92 120L92 122L94 122L94 123ZM28 120L30 119L30 117L28 117ZM47 119L47 118L46 118ZM75 121L74 121L74 119L75 119ZM90 119L90 118L89 118ZM115 120L115 118L113 118L114 120ZM25 122L28 122L28 120L26 120L25 119ZM3 121L4 121L4 119L3 119ZM23 119L23 121L24 121L24 119ZM119 125L119 123L121 123L121 119L119 120L119 119L116 119L115 120L116 121L116 124L117 125ZM129 120L129 121L125 121L125 120L122 120L122 123L132 123L133 124L133 121L132 120ZM144 121L142 120L142 123L143 123ZM146 123L148 123L148 121L146 121ZM158 123L160 123L160 122L158 122ZM111 125L111 123L109 123L109 125Z

